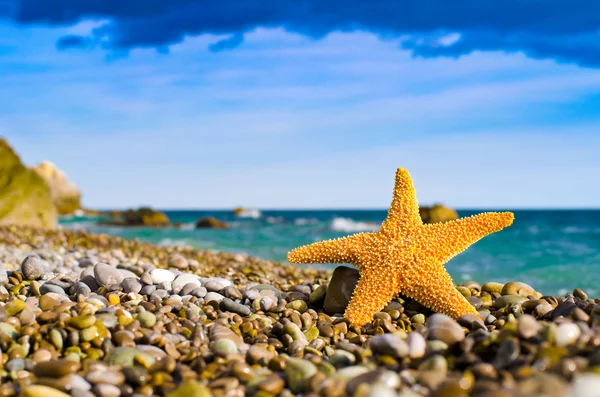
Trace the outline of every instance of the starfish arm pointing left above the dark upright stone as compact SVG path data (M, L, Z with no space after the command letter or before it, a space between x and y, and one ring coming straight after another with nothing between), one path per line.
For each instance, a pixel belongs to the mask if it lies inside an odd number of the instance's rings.
M290 251L287 260L291 263L351 263L358 266L359 251L374 234L359 233L305 245Z

